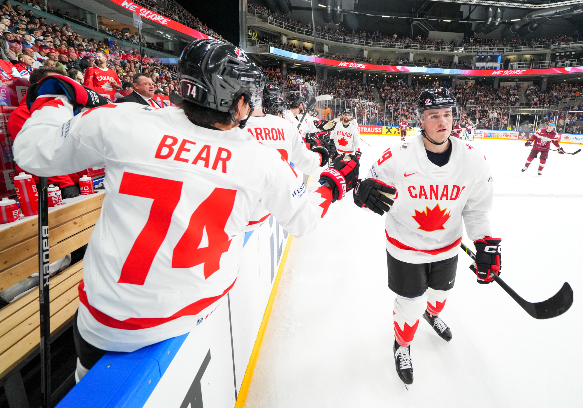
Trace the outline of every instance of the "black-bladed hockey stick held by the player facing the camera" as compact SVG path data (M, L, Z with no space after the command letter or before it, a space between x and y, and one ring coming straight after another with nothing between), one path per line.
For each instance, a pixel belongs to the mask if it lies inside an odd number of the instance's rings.
M476 260L476 254L472 252L467 246L462 242L462 249L467 253L473 260ZM514 299L522 309L526 311L535 319L550 319L556 318L562 315L564 312L573 304L573 289L571 286L565 282L563 287L554 296L546 299L546 301L531 303L522 299L517 292L512 290L507 283L505 283L502 278L498 277L496 274L490 274L494 281L500 285L511 297Z

